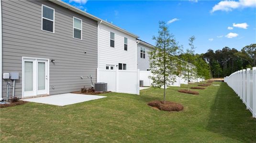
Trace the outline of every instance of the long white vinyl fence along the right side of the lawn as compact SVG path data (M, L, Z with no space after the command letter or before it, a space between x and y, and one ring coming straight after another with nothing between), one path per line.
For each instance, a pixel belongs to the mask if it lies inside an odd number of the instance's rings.
M232 73L224 78L256 118L256 67Z

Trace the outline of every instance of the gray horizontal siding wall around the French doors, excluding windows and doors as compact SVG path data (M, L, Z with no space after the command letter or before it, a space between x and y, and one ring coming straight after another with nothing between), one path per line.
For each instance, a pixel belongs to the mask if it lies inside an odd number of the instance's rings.
M19 72L19 80L16 81L15 87L17 97L22 97L22 57L50 59L50 94L74 92L79 91L83 86L89 87L91 83L87 78L88 75L92 75L93 82L96 82L97 21L50 1L1 0L1 2L2 72ZM55 9L55 33L41 31L42 4ZM73 16L82 19L82 40L73 38ZM84 51L87 53L85 54ZM56 62L53 63L51 60ZM82 80L80 76L84 79ZM7 82L3 80L4 99L6 99L6 87Z

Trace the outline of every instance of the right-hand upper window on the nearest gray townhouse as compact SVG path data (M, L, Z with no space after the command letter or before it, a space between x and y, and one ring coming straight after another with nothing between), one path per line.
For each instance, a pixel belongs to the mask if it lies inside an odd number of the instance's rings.
M82 40L82 20L73 17L73 38Z

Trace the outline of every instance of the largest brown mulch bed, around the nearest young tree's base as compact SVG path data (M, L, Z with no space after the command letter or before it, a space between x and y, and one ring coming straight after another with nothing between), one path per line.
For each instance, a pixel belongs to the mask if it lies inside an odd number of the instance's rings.
M181 104L176 102L166 101L166 103L164 104L164 101L152 101L147 104L153 108L157 108L163 111L182 111L184 109Z

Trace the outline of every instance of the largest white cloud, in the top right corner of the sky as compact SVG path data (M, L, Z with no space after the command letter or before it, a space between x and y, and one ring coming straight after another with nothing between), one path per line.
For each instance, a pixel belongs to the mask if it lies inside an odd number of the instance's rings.
M216 4L212 8L211 13L214 12L214 11L218 11L218 10L232 11L234 9L246 8L246 7L256 7L256 0L239 0L239 1L225 0L225 1L220 1L218 4Z

